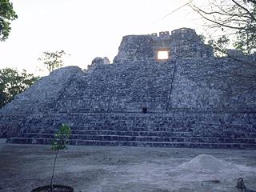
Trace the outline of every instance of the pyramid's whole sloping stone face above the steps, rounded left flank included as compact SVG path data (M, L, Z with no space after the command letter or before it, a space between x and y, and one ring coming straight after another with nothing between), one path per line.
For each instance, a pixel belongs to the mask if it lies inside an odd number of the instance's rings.
M33 118L47 114L141 114L143 108L148 114L254 113L256 73L247 66L253 59L148 59L99 65L86 72L66 67L42 78L0 110L1 134L14 135L34 125Z

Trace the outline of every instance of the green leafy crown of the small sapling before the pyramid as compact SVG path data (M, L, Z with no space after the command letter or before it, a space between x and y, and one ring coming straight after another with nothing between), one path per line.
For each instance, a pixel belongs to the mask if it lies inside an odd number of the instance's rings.
M70 127L62 124L58 132L55 134L54 141L51 143L52 150L65 150L70 139Z

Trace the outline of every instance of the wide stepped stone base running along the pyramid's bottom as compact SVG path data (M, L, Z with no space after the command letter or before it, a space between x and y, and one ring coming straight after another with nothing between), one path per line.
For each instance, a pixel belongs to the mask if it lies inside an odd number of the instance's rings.
M66 122L71 127L71 145L256 149L255 114L89 113L55 114L54 118L52 115L49 121L47 117L43 121L33 119L33 126L26 126L31 125L31 119L24 121L26 129L7 142L50 144L58 125Z

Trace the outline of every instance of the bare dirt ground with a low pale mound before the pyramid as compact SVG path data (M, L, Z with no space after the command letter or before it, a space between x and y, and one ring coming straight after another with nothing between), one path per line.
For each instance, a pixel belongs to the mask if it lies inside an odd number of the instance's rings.
M53 162L50 146L0 139L0 191L49 185ZM59 153L54 184L76 192L240 192L240 177L256 190L255 150L69 146Z

